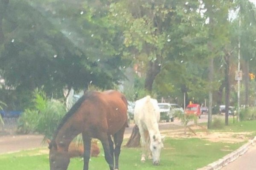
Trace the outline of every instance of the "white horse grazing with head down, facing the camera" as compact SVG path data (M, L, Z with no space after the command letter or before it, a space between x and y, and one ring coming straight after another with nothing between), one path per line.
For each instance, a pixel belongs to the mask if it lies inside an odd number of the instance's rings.
M145 154L153 158L153 164L160 164L160 152L163 148L163 138L158 128L160 111L156 99L146 96L136 101L134 108L134 120L139 127L142 145L141 161L145 161Z

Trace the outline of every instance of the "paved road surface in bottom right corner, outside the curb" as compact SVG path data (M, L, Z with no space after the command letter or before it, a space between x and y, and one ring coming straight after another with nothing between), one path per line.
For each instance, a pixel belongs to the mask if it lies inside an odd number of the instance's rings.
M256 145L221 170L256 170Z

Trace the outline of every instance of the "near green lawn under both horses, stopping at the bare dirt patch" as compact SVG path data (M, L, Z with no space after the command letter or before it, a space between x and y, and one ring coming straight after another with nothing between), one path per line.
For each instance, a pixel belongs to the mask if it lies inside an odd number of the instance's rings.
M239 148L242 143L213 143L201 139L170 139L164 142L160 166L153 166L151 160L140 162L140 148L122 147L119 169L122 170L196 170L216 161ZM228 146L228 147L227 147ZM44 148L45 150L45 148ZM40 149L0 155L0 170L47 170L48 154L37 155ZM68 170L82 170L81 158L71 159ZM90 170L108 170L103 152L91 158Z

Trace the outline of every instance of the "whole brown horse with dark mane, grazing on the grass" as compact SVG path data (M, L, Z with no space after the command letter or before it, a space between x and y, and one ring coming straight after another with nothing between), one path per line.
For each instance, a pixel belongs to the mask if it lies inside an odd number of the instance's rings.
M102 142L110 170L118 169L120 148L127 125L127 100L118 91L87 92L68 111L49 143L50 170L67 170L70 142L82 133L84 169L88 170L91 139ZM111 139L113 136L113 141Z

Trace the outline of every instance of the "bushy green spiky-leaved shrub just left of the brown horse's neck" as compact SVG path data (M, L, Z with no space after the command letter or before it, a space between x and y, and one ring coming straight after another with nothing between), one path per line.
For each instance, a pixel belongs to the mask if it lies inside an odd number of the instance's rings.
M50 138L66 113L63 103L47 99L44 91L35 90L34 107L26 109L18 120L18 133L38 132Z

